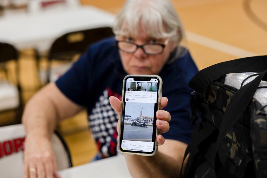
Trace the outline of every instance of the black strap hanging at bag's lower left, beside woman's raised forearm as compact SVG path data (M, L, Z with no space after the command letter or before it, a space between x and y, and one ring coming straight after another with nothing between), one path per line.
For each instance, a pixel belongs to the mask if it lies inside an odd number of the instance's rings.
M205 140L208 136L211 135L211 133L215 130L215 126L213 126L211 123L206 122L199 131L196 131L196 134L192 135L193 139L188 144L185 153L184 153L184 159L180 170L180 178L182 177L182 170L184 166L184 160L186 156L196 147L198 146L203 140Z

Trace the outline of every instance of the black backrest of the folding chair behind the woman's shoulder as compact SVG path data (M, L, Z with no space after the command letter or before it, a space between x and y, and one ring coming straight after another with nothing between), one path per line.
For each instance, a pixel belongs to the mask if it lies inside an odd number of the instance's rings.
M83 53L88 45L113 35L110 27L66 33L52 44L48 59L71 60L73 55Z

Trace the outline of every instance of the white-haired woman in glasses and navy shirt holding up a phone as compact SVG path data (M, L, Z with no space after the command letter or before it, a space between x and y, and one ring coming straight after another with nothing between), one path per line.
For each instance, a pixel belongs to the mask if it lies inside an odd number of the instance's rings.
M134 177L179 175L192 130L188 82L198 70L188 50L179 45L183 31L177 13L168 0L128 0L113 31L115 37L90 45L65 75L27 103L25 177L59 177L49 136L56 123L84 106L99 149L95 159L117 155L117 114L127 74L161 76L165 96L161 105L166 106L156 114L163 133L157 142L165 143L155 156L125 155L130 173Z

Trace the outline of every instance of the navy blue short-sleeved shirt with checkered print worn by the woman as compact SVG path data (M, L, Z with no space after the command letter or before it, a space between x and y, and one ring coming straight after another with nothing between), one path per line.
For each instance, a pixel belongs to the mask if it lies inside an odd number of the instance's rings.
M198 72L190 53L182 48L181 57L166 64L159 76L163 80L162 96L168 98L164 110L171 114L170 130L165 139L189 143L191 78ZM99 155L117 154L118 116L109 103L110 96L121 99L124 71L115 38L104 39L90 45L68 72L56 81L56 86L73 102L85 106Z

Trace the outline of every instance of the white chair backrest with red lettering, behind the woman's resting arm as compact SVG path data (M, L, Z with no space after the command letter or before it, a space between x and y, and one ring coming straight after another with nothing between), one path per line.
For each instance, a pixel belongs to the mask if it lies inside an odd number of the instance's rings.
M0 127L0 172L1 177L22 177L25 129L22 124ZM72 166L69 150L56 133L51 138L58 170Z

